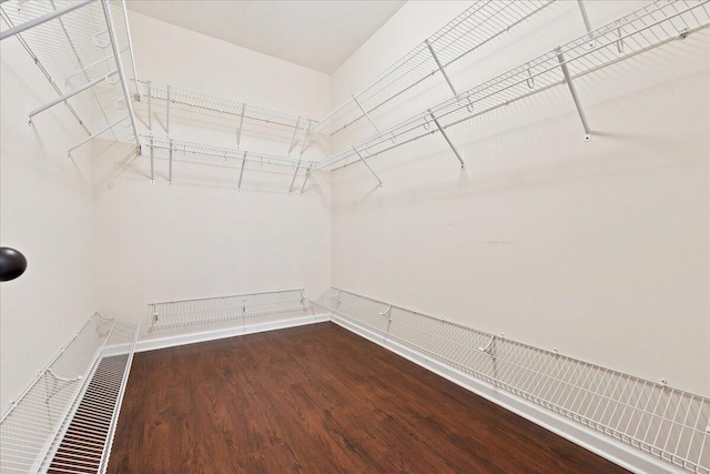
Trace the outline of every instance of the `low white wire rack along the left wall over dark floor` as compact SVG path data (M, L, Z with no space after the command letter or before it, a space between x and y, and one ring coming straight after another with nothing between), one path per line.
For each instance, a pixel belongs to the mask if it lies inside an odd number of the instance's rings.
M0 418L1 473L105 472L138 334L87 320Z

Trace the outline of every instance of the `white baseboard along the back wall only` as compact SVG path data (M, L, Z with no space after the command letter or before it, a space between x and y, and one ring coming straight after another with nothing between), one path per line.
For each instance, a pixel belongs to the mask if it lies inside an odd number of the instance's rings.
M306 324L324 323L331 321L329 314L310 314L306 316L288 317L268 323L252 324L247 326L227 327L214 331L204 331L193 334L181 334L174 336L146 339L135 344L135 352L155 351L159 349L174 347L197 342L215 341L219 339L233 337L235 335L254 334L265 331L283 330L287 327L303 326Z

